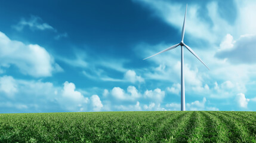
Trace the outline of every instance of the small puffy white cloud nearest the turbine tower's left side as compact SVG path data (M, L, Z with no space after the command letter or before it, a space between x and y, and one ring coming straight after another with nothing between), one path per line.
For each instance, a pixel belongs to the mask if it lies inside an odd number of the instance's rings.
M155 102L162 102L162 100L165 97L165 91L161 91L161 89L156 88L155 90L146 90L144 92L144 98L149 98L150 100L153 100Z

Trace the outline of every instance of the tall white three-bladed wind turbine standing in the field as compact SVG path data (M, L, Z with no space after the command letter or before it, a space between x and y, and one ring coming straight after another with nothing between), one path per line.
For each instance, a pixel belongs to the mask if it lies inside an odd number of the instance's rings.
M198 58L199 61L201 61L203 63L203 61L201 60L201 58L198 57L198 55L196 55L196 53L193 51L193 49L191 49L189 46L187 46L184 42L184 33L185 33L185 25L186 25L186 15L187 15L187 6L186 6L186 12L185 12L185 16L184 16L184 21L183 21L183 27L182 27L182 32L181 32L181 42L177 43L176 45L170 46L167 49L164 49L161 52L158 52L150 57L153 57L155 55L161 54L162 52L166 52L169 51L170 49L174 49L177 46L181 46L181 111L186 111L186 107L185 107L185 85L184 85L184 60L183 60L183 46L185 46L193 55L195 55L196 58ZM147 57L147 58L150 58ZM146 60L147 58L144 58L143 60ZM203 63L203 65L205 65L205 63ZM205 65L205 67L207 67ZM207 67L208 70L210 70Z

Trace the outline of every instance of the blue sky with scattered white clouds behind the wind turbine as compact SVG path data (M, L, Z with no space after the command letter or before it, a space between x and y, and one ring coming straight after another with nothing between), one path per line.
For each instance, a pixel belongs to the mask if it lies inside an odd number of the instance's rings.
M255 1L188 1L186 110L256 111ZM185 1L4 1L0 113L180 110Z

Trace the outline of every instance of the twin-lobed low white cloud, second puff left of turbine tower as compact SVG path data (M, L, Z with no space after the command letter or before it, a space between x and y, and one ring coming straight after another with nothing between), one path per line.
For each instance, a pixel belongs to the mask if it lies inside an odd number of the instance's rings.
M111 95L118 100L136 100L141 97L140 93L134 86L128 86L127 93L124 89L115 87L111 91Z

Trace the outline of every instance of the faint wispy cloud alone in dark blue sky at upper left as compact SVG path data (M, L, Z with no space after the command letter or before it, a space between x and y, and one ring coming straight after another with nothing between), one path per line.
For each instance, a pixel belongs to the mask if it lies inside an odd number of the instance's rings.
M55 30L47 23L42 23L42 19L38 16L31 15L29 20L21 18L17 25L14 25L14 29L21 31L25 26L28 26L31 30Z

